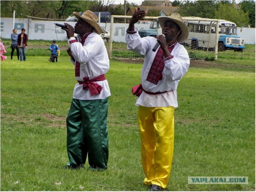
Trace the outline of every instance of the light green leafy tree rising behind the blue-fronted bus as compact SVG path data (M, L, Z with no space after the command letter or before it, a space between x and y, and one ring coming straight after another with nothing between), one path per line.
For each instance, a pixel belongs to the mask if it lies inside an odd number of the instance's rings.
M215 18L227 20L236 23L238 27L247 26L250 18L248 12L234 7L234 4L219 4L218 10L215 11Z

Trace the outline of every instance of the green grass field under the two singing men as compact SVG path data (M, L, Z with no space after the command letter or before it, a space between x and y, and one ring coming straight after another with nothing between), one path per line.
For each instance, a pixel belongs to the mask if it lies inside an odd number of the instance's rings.
M255 46L229 59L232 54L194 62L179 83L167 190L255 191ZM142 65L110 60L110 154L104 172L88 170L87 162L84 169L63 168L73 68L64 55L58 63L29 54L25 62L1 62L0 190L147 191L131 93ZM188 184L188 176L248 176L248 184Z

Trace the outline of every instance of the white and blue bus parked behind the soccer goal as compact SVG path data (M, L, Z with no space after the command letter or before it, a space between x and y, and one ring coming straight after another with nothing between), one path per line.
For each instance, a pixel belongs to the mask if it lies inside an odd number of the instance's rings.
M184 18L184 23L188 26L189 31L188 39L184 42L184 45L190 46L191 49L214 50L217 22L186 20L188 18L198 19L199 17ZM234 50L242 52L244 48L244 39L237 36L236 24L219 20L218 51Z

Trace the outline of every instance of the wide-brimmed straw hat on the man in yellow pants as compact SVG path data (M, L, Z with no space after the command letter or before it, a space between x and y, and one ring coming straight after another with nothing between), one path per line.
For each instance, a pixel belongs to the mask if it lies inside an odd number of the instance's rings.
M182 43L188 38L188 27L184 24L182 17L178 13L173 13L168 17L158 17L161 28L164 28L164 22L175 22L181 29L181 34L177 38L177 42Z

